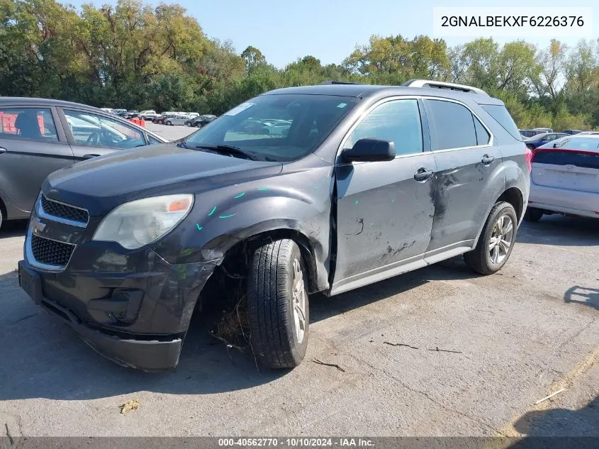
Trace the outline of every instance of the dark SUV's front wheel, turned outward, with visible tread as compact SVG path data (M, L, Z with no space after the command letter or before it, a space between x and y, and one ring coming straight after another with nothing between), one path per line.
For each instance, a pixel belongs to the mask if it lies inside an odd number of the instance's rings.
M310 307L305 273L293 240L276 240L254 253L247 282L247 315L252 349L264 366L293 368L306 355Z

